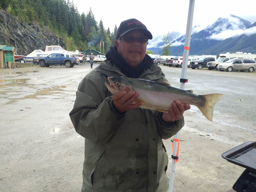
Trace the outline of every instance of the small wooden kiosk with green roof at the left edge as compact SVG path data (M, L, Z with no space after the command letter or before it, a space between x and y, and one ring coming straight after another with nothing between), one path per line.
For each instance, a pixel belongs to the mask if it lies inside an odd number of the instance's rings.
M0 68L13 68L16 66L14 59L15 52L16 49L14 47L0 45Z

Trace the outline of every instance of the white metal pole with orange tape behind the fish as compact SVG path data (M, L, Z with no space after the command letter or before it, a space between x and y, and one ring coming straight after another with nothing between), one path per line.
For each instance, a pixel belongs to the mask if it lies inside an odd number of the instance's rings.
M190 46L190 39L191 39L194 7L195 7L195 0L189 0L187 30L186 30L183 61L182 61L182 70L181 70L181 79L180 79L180 82L181 82L180 89L183 89L183 90L185 89L185 82L187 82L186 74L187 74L187 66L188 66L189 46ZM177 155L178 144L179 144L178 138L179 138L179 132L177 132L176 135L174 135L169 192L173 191L174 170L175 170L175 165L176 165L176 159L178 158L178 155Z

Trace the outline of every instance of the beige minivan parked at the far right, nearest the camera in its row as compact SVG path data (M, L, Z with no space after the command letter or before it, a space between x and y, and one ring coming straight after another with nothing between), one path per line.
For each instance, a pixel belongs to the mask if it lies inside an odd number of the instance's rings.
M253 72L256 69L256 61L254 59L230 59L225 63L219 64L217 69L219 69L220 71L227 70L229 72L233 70L248 70L249 72Z

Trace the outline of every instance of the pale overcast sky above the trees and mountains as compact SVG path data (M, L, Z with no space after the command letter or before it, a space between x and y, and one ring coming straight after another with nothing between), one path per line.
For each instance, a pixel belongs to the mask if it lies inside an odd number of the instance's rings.
M211 3L212 2L212 3ZM188 19L189 0L74 0L80 14L93 11L95 20L102 19L106 29L113 31L123 20L135 18L140 20L152 33L153 38L166 34L168 31L178 31L185 34ZM255 0L195 0L193 26L205 28L219 17L229 14L236 15L251 23L256 22Z

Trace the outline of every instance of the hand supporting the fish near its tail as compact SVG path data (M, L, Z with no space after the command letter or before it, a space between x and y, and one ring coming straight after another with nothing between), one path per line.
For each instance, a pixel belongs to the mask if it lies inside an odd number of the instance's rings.
M188 103L181 104L175 101L172 103L172 108L169 109L169 113L163 113L162 119L165 122L177 121L183 116L184 111L188 109L190 109Z

